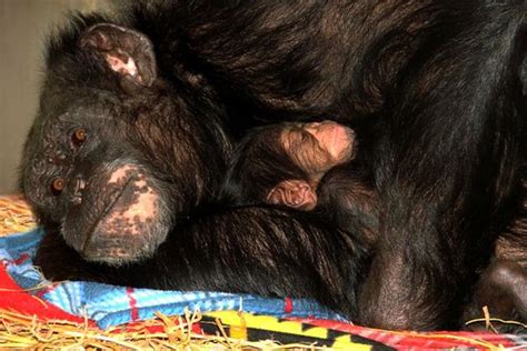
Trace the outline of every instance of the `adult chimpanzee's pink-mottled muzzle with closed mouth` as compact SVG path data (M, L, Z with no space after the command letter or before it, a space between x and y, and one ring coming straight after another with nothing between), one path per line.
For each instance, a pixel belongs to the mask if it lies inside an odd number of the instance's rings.
M127 172L89 213L82 234L70 235L70 244L87 260L106 263L131 262L153 254L165 241L170 215L165 212L160 191L141 172ZM88 208L84 209L84 214Z

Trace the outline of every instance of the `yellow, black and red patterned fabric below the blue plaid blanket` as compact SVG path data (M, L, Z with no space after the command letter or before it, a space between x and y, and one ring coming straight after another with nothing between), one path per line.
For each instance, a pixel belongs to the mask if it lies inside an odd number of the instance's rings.
M246 340L265 340L272 335L271 339L280 342L345 350L527 350L527 334L388 331L332 320L277 319L229 311L211 312L206 317L219 318L228 325L223 327L228 335Z

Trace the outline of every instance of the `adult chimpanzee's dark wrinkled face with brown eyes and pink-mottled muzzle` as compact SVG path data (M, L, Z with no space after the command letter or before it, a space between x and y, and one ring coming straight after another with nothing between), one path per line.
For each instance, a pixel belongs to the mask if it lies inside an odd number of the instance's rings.
M123 132L133 126L112 112L105 99L77 101L34 126L23 176L37 213L59 223L77 251L107 262L149 255L171 223L163 183Z

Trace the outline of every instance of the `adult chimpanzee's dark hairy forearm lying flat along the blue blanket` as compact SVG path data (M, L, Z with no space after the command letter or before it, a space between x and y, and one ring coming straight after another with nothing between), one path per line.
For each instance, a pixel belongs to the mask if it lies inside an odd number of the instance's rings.
M242 208L193 218L139 263L90 263L53 232L36 264L52 280L314 298L349 318L366 250L306 213Z

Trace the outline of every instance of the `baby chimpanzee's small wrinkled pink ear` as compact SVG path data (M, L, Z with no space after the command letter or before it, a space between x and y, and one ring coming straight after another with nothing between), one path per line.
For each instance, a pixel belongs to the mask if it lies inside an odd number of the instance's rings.
M317 192L305 180L284 180L269 191L267 202L309 211L317 205Z

